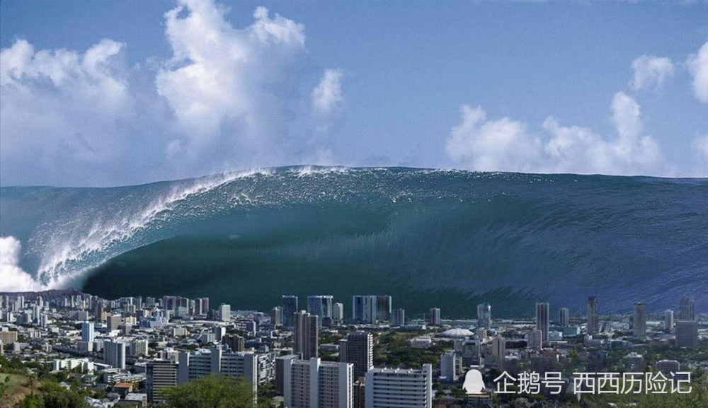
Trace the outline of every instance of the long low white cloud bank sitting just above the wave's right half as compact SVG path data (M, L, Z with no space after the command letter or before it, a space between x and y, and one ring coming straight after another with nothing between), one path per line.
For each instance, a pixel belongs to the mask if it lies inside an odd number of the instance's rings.
M591 129L564 127L554 117L534 134L523 122L488 120L481 107L462 105L446 151L452 161L480 171L665 175L658 145L642 134L639 104L618 92L612 99L616 135L605 139Z

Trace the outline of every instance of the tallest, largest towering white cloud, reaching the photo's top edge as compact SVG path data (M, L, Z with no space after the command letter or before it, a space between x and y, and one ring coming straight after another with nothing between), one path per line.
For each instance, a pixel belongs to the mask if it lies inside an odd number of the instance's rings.
M275 154L295 116L304 26L258 7L253 23L238 29L213 1L178 3L165 14L173 57L156 77L184 136L169 153L217 160Z

